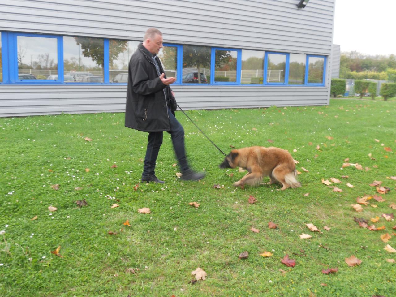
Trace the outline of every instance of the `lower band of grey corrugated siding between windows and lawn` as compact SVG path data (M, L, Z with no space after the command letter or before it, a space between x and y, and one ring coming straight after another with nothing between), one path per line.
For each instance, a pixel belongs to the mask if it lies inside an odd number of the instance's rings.
M182 109L326 105L326 87L173 86ZM125 111L126 86L0 87L0 116Z

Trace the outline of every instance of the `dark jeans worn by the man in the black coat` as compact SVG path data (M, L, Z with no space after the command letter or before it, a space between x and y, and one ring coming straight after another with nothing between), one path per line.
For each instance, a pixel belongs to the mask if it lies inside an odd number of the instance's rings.
M168 110L168 114L171 129L167 132L171 135L173 149L175 150L176 158L179 161L180 169L183 172L188 169L186 150L184 147L184 129L170 110ZM164 133L162 131L148 132L148 144L142 177L149 177L150 175L155 174L155 163L162 145L163 136Z

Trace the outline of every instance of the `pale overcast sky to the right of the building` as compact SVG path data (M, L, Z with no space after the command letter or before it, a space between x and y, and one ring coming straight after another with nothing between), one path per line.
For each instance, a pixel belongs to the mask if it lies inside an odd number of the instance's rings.
M336 0L333 44L341 51L396 54L395 13L396 0Z

